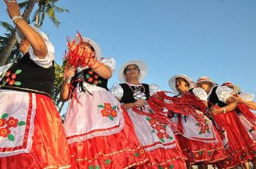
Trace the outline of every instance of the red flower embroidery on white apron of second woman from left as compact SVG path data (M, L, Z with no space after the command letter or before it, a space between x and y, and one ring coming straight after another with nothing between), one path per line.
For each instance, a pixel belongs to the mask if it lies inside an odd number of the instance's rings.
M111 106L110 103L104 103L104 105L99 104L98 107L102 108L102 117L108 117L112 121L117 117L117 106Z

